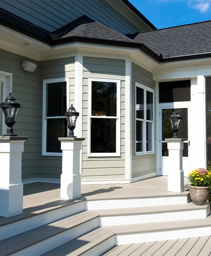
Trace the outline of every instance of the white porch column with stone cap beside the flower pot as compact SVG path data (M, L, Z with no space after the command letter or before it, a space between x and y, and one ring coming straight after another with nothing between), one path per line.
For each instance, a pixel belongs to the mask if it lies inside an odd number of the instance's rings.
M183 144L185 139L165 139L167 141L169 170L168 192L184 191Z

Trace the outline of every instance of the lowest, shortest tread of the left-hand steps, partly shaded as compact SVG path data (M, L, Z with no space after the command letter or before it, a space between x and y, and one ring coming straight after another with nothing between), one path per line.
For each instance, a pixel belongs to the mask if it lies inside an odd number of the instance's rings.
M71 240L70 242L60 245L57 248L48 251L41 256L80 256L86 251L109 239L110 237L113 237L114 235L114 232L99 227L81 237L78 237Z

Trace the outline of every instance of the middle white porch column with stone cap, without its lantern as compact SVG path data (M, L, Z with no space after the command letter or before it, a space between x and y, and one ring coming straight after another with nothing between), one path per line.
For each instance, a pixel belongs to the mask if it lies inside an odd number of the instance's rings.
M81 197L80 150L84 138L58 138L62 149L61 191L62 199Z

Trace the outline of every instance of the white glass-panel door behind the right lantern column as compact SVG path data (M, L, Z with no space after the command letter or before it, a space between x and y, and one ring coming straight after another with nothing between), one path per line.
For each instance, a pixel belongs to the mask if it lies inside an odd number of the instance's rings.
M185 138L184 149L183 149L183 170L184 176L190 172L190 139L189 139L189 107L178 107L178 108L161 108L161 164L160 164L160 174L168 175L168 172L171 171L171 164L168 158L168 149L166 138L171 138L173 136L171 123L168 118L171 116L174 109L178 112L179 115L183 118L181 120L178 137Z

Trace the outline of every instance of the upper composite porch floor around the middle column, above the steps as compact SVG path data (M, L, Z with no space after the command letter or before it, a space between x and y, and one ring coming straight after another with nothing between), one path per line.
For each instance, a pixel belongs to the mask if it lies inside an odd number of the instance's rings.
M187 185L185 179L185 185ZM78 202L84 199L131 198L140 196L158 196L171 194L167 192L167 177L158 176L130 184L82 185L81 198L76 200L60 199L60 184L31 183L24 185L23 214L11 218L0 217L0 226L18 219L27 218L54 209L65 204Z

